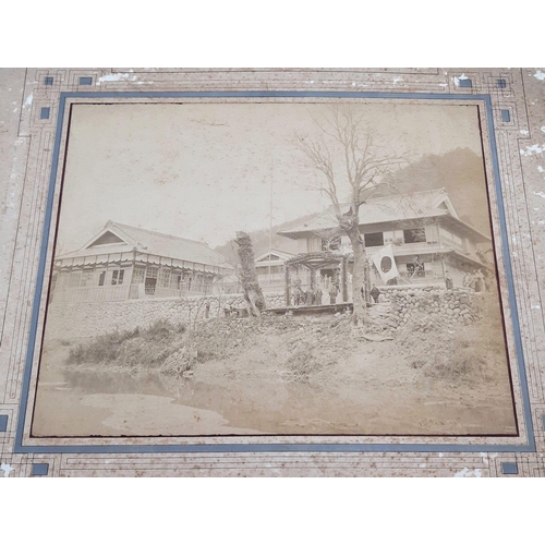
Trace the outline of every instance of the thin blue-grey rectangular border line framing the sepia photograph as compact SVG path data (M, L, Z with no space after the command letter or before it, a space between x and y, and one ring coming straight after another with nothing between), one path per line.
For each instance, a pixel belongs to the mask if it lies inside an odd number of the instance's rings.
M488 121L488 136L491 140L491 152L493 161L494 183L498 202L499 223L501 240L504 243L504 265L507 272L507 287L509 292L509 304L511 307L512 325L514 330L514 344L517 361L521 378L521 392L524 421L526 424L526 445L429 445L429 444L222 444L222 445L74 445L74 446L24 446L23 433L25 414L28 402L31 385L32 364L34 360L34 349L36 344L36 334L38 326L39 304L45 277L47 246L51 230L51 216L55 196L55 182L59 171L59 156L62 136L62 125L64 123L64 111L68 98L388 98L388 99L423 99L423 100L482 100L486 106ZM494 132L494 119L492 111L492 100L489 95L437 95L426 93L364 93L364 92L83 92L83 93L61 93L59 100L59 118L55 137L55 148L52 156L52 168L49 180L46 215L44 223L44 237L41 240L40 258L38 264L38 275L36 279L36 291L34 294L34 305L31 322L31 335L28 340L28 351L26 355L25 371L23 375L23 388L19 408L17 427L15 433L14 453L159 453L159 452L535 452L535 436L532 423L530 397L528 391L528 378L524 366L524 355L522 352L522 341L520 335L520 322L514 298L514 283L511 269L511 257L509 252L509 240L507 235L506 217L504 211L504 197L501 193L501 182L499 177L499 162L497 156L496 135Z

